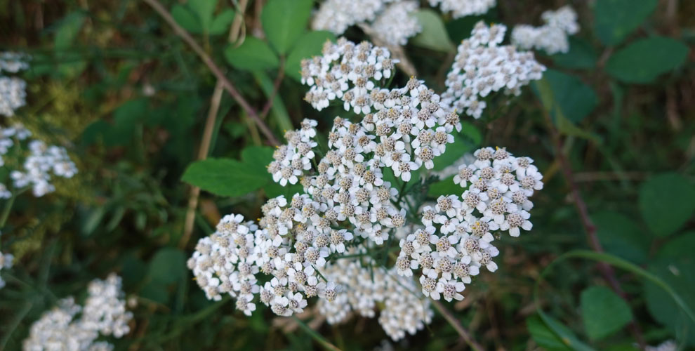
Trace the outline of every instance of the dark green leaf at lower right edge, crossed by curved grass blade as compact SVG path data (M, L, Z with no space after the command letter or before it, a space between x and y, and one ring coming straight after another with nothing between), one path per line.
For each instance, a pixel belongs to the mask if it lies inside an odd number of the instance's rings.
M686 252L682 256L666 256L655 260L648 270L673 287L692 310L695 308L695 256L692 254L692 246L684 251ZM667 326L680 343L695 347L695 322L669 298L666 291L652 282L644 282L644 298L647 300L649 313L656 321Z

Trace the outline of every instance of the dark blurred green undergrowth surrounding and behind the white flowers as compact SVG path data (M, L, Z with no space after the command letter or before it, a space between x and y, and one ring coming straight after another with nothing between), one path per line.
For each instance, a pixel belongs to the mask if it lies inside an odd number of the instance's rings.
M345 112L319 113L303 102L298 65L331 34L307 29L311 1L297 1L289 13L267 10L280 1L250 1L245 10L236 0L164 7L276 138L305 117L325 131ZM571 51L536 53L549 68L544 79L482 119L463 118L461 141L449 152L456 153L451 163L480 146L505 146L536 160L545 189L534 198L534 230L503 237L500 270L481 274L463 301L447 306L485 350L633 350L670 339L692 349L695 2L498 0L482 17L423 16L425 33L404 52L418 78L442 91L451 43L468 37L477 20L537 24L541 12L564 4L582 26ZM243 20L234 22L236 15ZM278 32L289 34L274 39ZM23 74L27 107L15 118L65 145L79 168L57 192L18 197L11 208L1 239L16 260L2 272L0 349L20 348L58 298L84 296L91 279L112 271L138 302L133 331L113 340L117 350L319 347L293 319L263 308L245 317L229 300L206 300L191 280L185 260L220 216L257 218L267 197L293 191L265 173L267 135L147 2L0 0L0 33L0 49L32 55ZM357 28L346 37L369 39ZM407 79L400 72L395 84ZM197 197L182 176L204 156L227 161L186 173L197 184L208 177ZM428 196L451 192L442 182ZM608 255L563 256L600 248ZM302 319L345 350L373 349L387 338L375 319L340 326L312 313ZM393 346L468 347L439 314Z

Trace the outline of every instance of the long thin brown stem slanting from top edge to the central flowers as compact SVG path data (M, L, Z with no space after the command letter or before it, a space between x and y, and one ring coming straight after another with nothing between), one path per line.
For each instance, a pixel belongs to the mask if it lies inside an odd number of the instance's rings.
M156 11L161 18L164 18L164 20L168 23L168 25L171 26L171 28L176 32L176 34L183 39L183 41L190 46L193 51L201 58L203 63L210 69L212 74L222 82L223 87L227 91L227 93L230 93L232 95L232 98L234 98L235 101L241 106L241 108L246 112L246 114L249 114L249 117L253 119L254 122L256 122L256 125L260 129L261 133L265 135L265 138L267 138L268 142L272 145L280 145L279 140L275 137L275 135L270 131L270 128L265 124L263 119L260 119L260 116L258 116L258 113L256 112L256 109L251 107L249 105L249 102L244 99L244 96L237 91L237 88L232 84L232 81L230 79L227 79L225 77L225 74L222 72L222 69L213 61L213 59L208 55L203 48L191 37L191 35L186 31L186 29L183 29L176 20L171 17L171 14L169 13L164 6L161 5L161 3L158 0L143 0L145 3L150 5L154 11Z

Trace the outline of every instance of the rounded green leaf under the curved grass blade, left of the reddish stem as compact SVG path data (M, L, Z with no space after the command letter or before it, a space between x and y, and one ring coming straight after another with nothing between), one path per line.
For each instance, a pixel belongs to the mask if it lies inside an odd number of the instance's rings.
M580 300L584 329L593 340L615 333L633 319L628 303L605 286L585 289Z

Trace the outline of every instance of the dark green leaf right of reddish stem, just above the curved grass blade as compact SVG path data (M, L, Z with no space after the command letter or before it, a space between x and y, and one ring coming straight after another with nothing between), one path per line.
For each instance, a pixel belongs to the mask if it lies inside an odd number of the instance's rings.
M597 212L592 220L599 241L607 252L638 264L647 260L652 235L638 225L639 220L610 211Z

